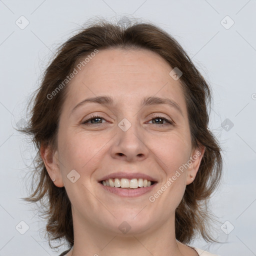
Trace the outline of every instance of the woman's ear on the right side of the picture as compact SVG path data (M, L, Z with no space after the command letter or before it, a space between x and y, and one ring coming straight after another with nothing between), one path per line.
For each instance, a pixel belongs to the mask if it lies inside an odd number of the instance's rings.
M191 163L191 164L189 164L189 166L186 169L187 170L187 172L186 172L187 173L187 177L186 177L187 185L193 182L193 180L196 176L196 173L199 169L204 151L205 151L205 147L202 145L194 148L191 151L190 158L188 160L188 163ZM191 175L192 175L192 177L191 177Z

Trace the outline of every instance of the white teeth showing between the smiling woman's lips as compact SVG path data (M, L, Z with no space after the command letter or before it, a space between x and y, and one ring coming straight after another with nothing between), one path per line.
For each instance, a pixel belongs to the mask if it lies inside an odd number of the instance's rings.
M148 187L156 183L156 181L151 181L143 178L109 178L101 180L100 183L104 186L117 187L117 188L139 188Z

